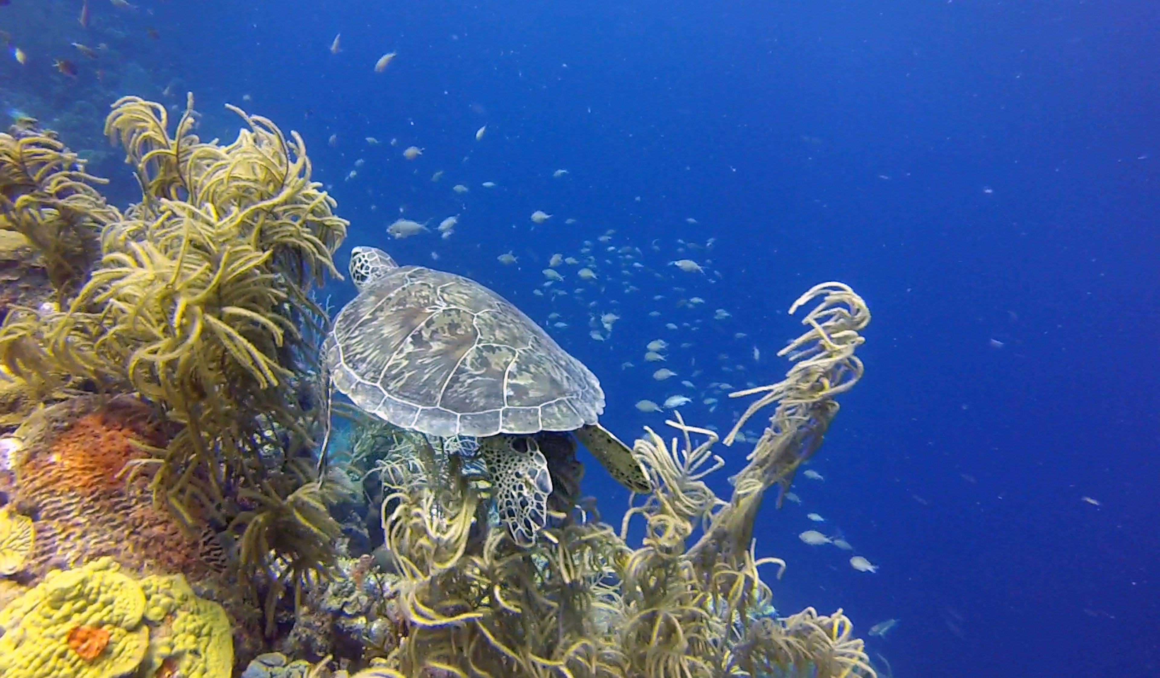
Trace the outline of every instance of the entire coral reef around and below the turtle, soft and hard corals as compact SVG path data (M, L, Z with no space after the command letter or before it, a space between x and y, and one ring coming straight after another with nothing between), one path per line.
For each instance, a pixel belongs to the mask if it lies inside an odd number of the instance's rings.
M191 97L172 133L164 105L114 104L142 191L124 212L52 133L0 136L0 283L51 287L0 290L0 675L875 675L841 610L774 607L761 574L785 563L753 539L862 376L849 287L799 298L785 379L732 394L757 399L725 445L771 415L727 500L704 482L717 433L677 415L636 442L651 491L616 530L572 438L545 432L515 539L510 460L332 411L313 292L347 223L297 134L231 110L245 129L219 145ZM358 425L327 469L332 414ZM372 528L343 524L364 506Z

